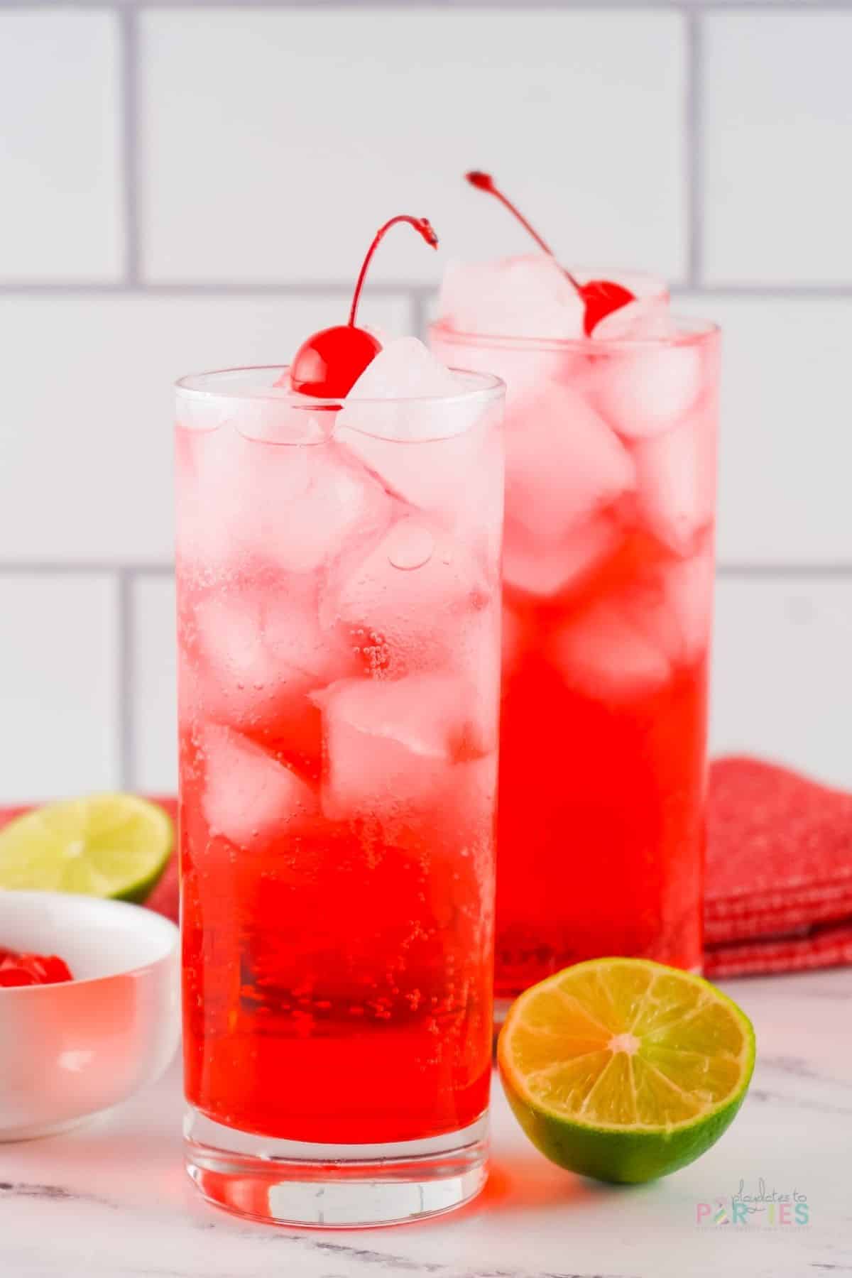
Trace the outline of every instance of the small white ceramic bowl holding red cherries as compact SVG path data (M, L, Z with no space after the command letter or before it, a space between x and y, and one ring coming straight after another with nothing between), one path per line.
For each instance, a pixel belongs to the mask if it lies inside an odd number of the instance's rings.
M169 1065L178 928L121 901L0 892L0 947L59 955L74 980L0 988L0 1140L73 1127Z

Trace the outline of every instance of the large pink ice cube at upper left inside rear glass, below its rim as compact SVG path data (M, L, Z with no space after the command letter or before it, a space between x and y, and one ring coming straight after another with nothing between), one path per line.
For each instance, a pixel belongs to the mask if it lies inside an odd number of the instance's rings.
M634 487L621 440L571 386L551 386L506 423L506 516L547 541Z

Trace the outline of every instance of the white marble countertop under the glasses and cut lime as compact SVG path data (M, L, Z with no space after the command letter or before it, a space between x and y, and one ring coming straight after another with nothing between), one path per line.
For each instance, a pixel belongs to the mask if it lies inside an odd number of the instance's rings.
M740 1117L692 1167L613 1187L552 1167L494 1085L484 1194L419 1226L307 1231L207 1206L183 1172L176 1067L64 1136L0 1145L1 1278L841 1278L852 1274L852 970L728 982L757 1031ZM8 1051L6 1045L3 1049ZM697 1222L805 1195L807 1224ZM706 1213L709 1217L709 1213ZM711 1217L710 1217L711 1220Z

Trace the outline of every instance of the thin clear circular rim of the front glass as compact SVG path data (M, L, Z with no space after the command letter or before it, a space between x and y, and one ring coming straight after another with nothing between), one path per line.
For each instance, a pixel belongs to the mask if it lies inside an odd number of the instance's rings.
M355 395L355 396L327 396L321 397L316 395L300 395L298 391L291 390L289 386L240 386L239 389L229 390L227 386L221 387L220 380L226 380L229 376L234 377L239 373L285 373L290 368L290 364L236 364L231 368L216 368L204 373L188 373L184 377L179 377L174 382L176 394L180 397L194 400L197 403L215 403L216 400L231 400L231 401L270 401L277 404L290 404L294 409L316 412L322 409L341 409L346 404L367 404L376 405L377 408L383 405L387 408L399 406L401 404L422 404L422 405L439 405L439 404L489 404L506 391L506 382L502 377L497 377L494 373L479 373L470 368L451 368L450 372L460 373L462 377L468 377L478 385L471 386L469 390L460 390L455 395L399 395L399 396L368 396L368 395Z

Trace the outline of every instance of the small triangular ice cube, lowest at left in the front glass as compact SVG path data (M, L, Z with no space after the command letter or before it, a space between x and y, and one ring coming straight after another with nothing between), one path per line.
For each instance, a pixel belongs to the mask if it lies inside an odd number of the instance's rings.
M208 723L202 755L202 806L213 836L250 847L272 833L286 837L317 812L309 785L232 728Z

